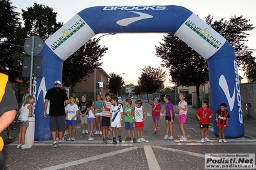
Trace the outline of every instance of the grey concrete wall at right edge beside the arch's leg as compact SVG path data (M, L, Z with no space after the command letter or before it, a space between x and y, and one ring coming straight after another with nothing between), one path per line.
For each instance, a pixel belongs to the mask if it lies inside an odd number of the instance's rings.
M256 82L240 84L240 90L243 116L256 120Z

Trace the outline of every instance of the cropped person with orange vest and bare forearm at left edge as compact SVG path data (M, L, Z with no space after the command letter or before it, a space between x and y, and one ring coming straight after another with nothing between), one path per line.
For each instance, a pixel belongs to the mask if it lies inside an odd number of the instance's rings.
M8 81L8 75L0 73L0 133L8 127L16 116L18 109L17 99L13 93L12 84ZM2 154L4 146L0 137L0 169L3 169L4 158Z

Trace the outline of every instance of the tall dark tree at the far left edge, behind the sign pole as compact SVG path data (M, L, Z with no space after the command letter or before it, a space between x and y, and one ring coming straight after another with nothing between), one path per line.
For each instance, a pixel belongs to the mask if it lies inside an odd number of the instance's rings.
M0 39L3 41L0 45L0 72L9 75L11 82L14 82L19 75L21 62L16 59L19 58L19 53L22 51L22 48L7 44L17 44L15 31L19 28L20 19L15 8L10 0L0 1Z

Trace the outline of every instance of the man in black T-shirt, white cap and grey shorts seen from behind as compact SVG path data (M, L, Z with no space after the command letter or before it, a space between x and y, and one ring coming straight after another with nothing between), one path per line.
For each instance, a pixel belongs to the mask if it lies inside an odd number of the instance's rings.
M48 114L46 112L47 105L50 100L50 108L49 108L49 124L51 137L53 137L53 147L56 148L58 146L62 146L62 137L64 135L64 127L65 127L65 105L69 104L69 100L67 98L67 94L64 89L61 89L62 82L55 81L55 87L48 89L46 93L46 97L44 97L44 118L47 118ZM65 105L64 105L65 102ZM59 143L56 142L56 128L58 127L58 137Z

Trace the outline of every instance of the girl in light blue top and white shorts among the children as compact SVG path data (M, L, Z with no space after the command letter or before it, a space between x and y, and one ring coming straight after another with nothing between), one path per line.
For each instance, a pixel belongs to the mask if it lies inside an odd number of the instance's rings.
M94 103L94 109L97 109L98 111L95 114L95 125L96 125L96 132L95 134L102 135L102 97L101 95L97 95L97 100Z

